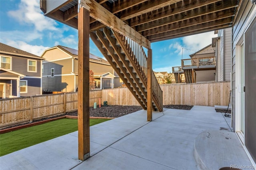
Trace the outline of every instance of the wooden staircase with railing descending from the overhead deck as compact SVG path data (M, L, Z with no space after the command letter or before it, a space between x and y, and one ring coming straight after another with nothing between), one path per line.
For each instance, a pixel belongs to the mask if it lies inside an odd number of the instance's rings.
M90 37L138 103L147 109L147 56L143 47L109 28L91 32ZM153 72L153 71L152 71ZM152 73L152 109L163 111L162 90Z

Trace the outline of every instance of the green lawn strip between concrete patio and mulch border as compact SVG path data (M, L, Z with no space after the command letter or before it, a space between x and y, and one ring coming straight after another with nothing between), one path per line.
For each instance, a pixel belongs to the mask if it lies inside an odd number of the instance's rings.
M90 126L110 119L90 119ZM77 119L59 119L34 127L23 128L0 134L0 156L74 132Z

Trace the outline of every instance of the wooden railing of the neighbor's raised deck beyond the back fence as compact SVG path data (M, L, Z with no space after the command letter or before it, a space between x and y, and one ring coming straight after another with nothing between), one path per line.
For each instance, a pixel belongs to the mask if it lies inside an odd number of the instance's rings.
M182 59L181 65L183 67L189 66L201 66L201 65L215 65L216 66L216 59L215 57L201 57L201 58L192 58L192 59Z

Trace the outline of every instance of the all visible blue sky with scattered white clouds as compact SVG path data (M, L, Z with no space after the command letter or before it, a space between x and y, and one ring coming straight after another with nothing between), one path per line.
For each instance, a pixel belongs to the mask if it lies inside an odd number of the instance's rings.
M171 72L172 67L180 66L180 59L190 58L189 54L209 45L216 36L207 32L151 43L153 70ZM77 49L78 31L44 16L39 0L0 0L0 42L40 56L56 45ZM90 53L103 57L92 41Z

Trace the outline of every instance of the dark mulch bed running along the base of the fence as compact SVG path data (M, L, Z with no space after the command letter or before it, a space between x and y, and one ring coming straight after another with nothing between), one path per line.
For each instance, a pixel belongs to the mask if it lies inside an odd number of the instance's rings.
M190 110L192 107L193 106L189 106L189 105L164 105L164 108L168 108L168 109ZM129 113L134 113L134 112L142 110L142 109L143 108L141 106L122 106L122 105L108 105L107 107L97 107L96 109L93 109L93 107L90 107L90 117L116 118L116 117L121 117L121 116L127 115ZM77 116L78 113L77 113L77 111L72 111L72 112L69 112L66 114L62 114L62 115L56 115L53 117L38 119L36 121L33 121L32 123L45 121L45 120L56 118L56 117L62 117L64 115ZM27 125L27 124L30 124L30 123L22 123L22 124L18 124L18 125L12 125L9 127L0 128L0 130L6 129L6 128L18 127L18 126Z

